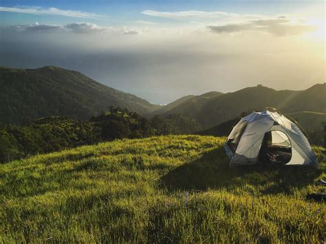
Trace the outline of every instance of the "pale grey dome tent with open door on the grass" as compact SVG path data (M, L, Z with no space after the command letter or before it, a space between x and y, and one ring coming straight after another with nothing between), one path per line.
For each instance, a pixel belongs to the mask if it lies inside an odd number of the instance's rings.
M253 111L239 120L224 144L230 166L318 165L300 128L276 109Z

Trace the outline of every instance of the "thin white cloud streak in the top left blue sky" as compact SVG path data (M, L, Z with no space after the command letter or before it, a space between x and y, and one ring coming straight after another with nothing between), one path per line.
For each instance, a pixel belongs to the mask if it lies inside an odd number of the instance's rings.
M103 19L107 16L82 12L77 10L61 10L58 8L41 8L41 7L25 7L25 8L8 8L0 7L0 12L17 12L22 14L37 14L37 15L60 15L74 18L85 19Z

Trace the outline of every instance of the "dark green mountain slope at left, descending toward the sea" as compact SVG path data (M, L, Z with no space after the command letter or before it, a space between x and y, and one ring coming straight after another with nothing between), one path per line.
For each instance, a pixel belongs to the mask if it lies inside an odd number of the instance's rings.
M109 106L140 114L156 105L102 85L83 74L48 66L40 69L0 67L0 122L23 122L52 115L89 120Z

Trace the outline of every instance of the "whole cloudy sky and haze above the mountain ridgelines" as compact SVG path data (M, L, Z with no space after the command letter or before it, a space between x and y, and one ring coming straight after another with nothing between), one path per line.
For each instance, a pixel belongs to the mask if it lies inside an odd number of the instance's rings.
M325 1L0 1L0 65L56 65L166 104L325 82Z

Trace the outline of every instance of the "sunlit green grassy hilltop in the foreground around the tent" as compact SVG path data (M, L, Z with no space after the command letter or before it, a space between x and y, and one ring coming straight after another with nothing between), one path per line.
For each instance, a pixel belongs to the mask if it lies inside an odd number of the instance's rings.
M320 168L228 168L224 138L117 140L0 166L0 243L325 243Z

